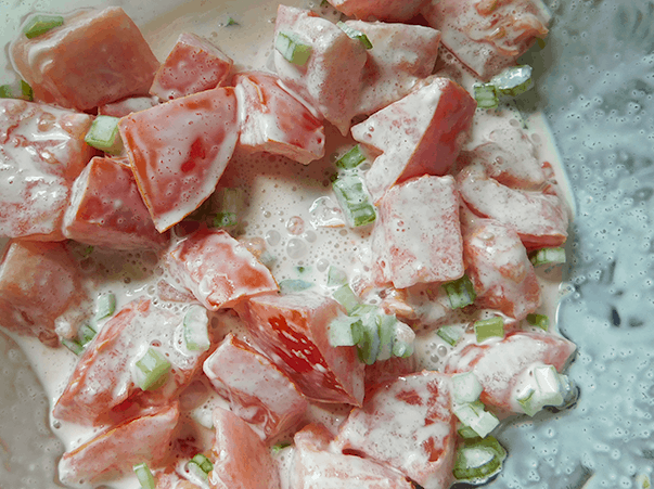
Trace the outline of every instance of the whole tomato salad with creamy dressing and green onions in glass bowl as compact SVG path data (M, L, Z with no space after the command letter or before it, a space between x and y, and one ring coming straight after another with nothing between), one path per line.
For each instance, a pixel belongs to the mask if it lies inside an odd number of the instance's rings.
M159 63L112 7L12 42L0 324L72 359L63 484L482 484L502 420L575 402L539 271L569 210L505 105L548 9L329 1L256 72L192 33Z

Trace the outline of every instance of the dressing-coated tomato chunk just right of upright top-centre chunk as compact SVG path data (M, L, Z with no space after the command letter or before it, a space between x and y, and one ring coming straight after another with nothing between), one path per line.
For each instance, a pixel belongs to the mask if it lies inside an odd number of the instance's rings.
M345 24L366 34L372 44L367 51L357 114L372 114L400 100L434 72L440 46L438 30L382 22Z

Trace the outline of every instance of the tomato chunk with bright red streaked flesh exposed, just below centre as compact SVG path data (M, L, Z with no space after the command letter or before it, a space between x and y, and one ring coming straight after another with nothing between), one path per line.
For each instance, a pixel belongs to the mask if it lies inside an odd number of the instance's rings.
M360 406L363 363L355 347L333 347L329 323L343 312L335 300L317 294L265 295L236 310L255 343L310 399Z

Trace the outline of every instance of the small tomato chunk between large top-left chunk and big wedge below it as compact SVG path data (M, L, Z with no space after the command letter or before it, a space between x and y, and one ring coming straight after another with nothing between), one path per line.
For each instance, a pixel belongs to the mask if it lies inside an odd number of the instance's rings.
M150 93L161 100L216 88L227 79L233 61L206 39L182 33L154 76Z

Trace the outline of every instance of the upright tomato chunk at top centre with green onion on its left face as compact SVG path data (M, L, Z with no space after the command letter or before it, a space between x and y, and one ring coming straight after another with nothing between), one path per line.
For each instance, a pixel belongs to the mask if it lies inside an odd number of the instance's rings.
M280 33L291 34L309 46L311 55L300 66L275 50L279 77L345 136L356 114L366 48L330 21L293 7L279 7L275 39Z

